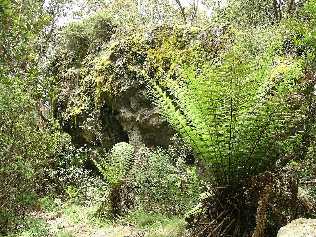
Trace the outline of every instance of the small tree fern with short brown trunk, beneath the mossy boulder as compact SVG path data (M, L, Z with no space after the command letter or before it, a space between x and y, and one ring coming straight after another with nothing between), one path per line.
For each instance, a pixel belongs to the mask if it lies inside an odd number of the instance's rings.
M109 184L111 210L112 214L116 215L126 210L129 203L125 192L124 179L134 157L134 148L128 143L121 142L115 144L109 153L105 152L105 157L101 157L99 153L97 154L100 164L93 158L91 160Z

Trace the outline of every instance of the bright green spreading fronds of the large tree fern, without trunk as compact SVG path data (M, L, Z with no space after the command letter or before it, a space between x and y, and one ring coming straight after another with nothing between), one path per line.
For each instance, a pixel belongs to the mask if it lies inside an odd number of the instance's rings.
M288 131L287 123L282 120L293 120L296 116L294 111L291 113L284 107L284 101L276 101L274 95L265 96L272 83L263 92L258 87L261 81L266 81L262 78L268 76L269 63L279 53L276 51L271 48L264 61L254 62L240 45L221 60L207 58L207 53L200 50L193 68L177 61L177 81L162 74L161 84L173 95L172 100L155 83L148 87L149 99L160 108L163 119L183 135L191 132L188 139L194 141L194 149L200 151L201 157L212 151L210 157L218 170L222 170L222 177L234 169L230 165L227 170L223 168L227 161L236 163L232 152L242 146L244 151L250 152L248 160L252 160L255 149L270 146L267 141L282 132L282 127L284 132ZM278 103L282 109L276 107ZM243 170L249 161L245 161ZM253 167L253 162L250 163Z

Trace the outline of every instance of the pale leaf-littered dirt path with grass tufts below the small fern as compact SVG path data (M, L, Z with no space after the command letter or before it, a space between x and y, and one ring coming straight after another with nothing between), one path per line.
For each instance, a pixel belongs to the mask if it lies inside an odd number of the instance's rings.
M94 218L89 213L89 207L75 207L64 212L63 215L52 214L47 216L46 212L36 212L31 214L32 219L38 218L47 222L52 231L52 235L57 237L187 237L190 236L190 230L177 229L177 222L171 228L166 225L161 226L161 222L155 222L153 225L143 228L136 228L135 223L115 223L98 218ZM94 222L95 221L95 222ZM100 223L101 222L101 223ZM56 235L55 235L55 234Z

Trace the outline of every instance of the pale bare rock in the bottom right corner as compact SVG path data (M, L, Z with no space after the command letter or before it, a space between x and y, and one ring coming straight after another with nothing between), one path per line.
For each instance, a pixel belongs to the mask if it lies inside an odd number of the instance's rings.
M316 219L300 218L280 228L277 237L315 237Z

